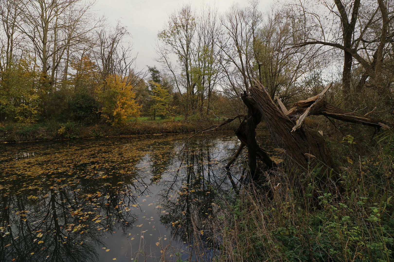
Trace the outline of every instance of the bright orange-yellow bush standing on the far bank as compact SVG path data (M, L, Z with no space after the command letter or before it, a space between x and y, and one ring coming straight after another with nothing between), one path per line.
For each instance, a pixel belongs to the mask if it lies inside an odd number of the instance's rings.
M112 125L125 125L139 117L141 106L135 101L132 86L126 85L119 75L108 76L96 93L102 104L101 112Z

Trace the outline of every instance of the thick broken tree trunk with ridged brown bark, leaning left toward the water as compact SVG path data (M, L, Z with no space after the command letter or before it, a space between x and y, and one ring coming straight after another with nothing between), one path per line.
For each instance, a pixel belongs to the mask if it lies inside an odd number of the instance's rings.
M312 167L320 165L325 170L321 180L323 183L332 171L335 178L339 170L331 158L323 136L317 130L304 125L293 130L294 122L279 110L262 85L257 84L251 88L250 94L244 95L244 103L246 101L245 104L252 104L261 113L276 146L285 152L283 157L289 168L308 170L311 164ZM290 181L299 183L294 175L295 172L288 174Z

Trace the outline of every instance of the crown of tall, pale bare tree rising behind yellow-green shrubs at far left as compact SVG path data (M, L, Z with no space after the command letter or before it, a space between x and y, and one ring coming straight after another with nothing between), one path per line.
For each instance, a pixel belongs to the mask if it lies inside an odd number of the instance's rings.
M95 27L88 18L92 2L84 0L15 0L21 7L19 31L29 38L41 60L43 77L48 87L63 55L71 46L84 41Z

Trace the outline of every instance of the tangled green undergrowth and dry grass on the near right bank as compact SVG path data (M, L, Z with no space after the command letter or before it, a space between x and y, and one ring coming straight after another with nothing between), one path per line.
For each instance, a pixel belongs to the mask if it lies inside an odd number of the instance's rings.
M310 181L299 192L278 170L266 174L270 196L249 185L235 200L222 201L215 260L394 260L394 137L386 132L377 141L368 156L349 157L341 167L339 190ZM344 143L354 142L347 137Z

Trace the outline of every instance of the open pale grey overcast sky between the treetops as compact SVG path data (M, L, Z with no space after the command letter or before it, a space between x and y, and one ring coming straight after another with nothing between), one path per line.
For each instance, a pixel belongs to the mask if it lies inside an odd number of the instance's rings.
M241 6L248 4L247 0L194 0L192 7L198 9L201 4L216 4L219 12L226 11L233 3ZM272 0L260 0L260 10L263 12L271 5ZM93 9L99 15L105 15L108 22L116 23L121 20L132 35L134 52L138 52L136 65L144 69L145 66L159 66L154 61L156 53L154 43L158 31L162 29L168 16L188 1L182 0L97 0Z

